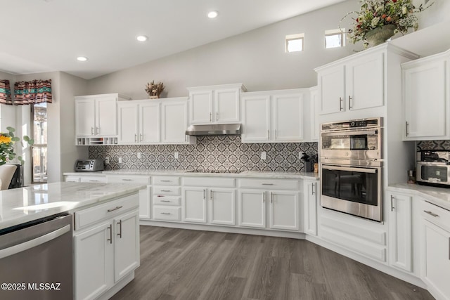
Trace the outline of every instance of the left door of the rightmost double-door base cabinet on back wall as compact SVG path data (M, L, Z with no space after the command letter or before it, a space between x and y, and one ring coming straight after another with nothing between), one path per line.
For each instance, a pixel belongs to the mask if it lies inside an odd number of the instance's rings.
M239 190L239 226L266 228L266 191Z

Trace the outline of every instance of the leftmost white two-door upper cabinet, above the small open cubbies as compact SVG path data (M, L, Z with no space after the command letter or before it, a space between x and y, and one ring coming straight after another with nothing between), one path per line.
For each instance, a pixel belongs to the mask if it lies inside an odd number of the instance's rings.
M75 97L75 135L117 136L117 93Z

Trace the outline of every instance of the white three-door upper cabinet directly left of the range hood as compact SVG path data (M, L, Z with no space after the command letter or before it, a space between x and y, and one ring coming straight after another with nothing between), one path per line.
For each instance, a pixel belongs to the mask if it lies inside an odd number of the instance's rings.
M119 144L195 143L186 136L188 101L186 98L132 100L118 107Z

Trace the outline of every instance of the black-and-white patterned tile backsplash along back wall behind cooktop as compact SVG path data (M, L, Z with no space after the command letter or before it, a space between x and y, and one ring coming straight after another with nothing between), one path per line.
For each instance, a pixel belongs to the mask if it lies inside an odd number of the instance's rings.
M260 158L263 151L266 160ZM141 159L137 158L138 152ZM174 152L179 153L178 159L174 158ZM240 136L198 136L196 145L89 146L89 158L110 157L106 170L304 171L299 152L317 155L317 143L247 144L240 142Z

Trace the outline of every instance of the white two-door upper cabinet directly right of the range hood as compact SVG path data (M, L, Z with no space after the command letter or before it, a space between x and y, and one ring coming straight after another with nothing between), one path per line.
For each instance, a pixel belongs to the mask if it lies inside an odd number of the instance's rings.
M303 141L302 90L245 93L243 143Z

